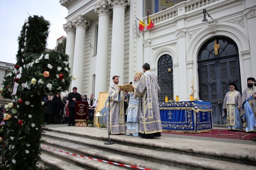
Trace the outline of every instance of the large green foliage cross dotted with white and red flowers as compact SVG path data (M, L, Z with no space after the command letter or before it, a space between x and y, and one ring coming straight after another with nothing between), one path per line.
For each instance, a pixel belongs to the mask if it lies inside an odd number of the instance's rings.
M68 90L71 82L69 56L45 51L50 23L42 16L30 16L18 38L17 63L5 76L2 96L5 106L4 151L1 169L37 169L40 137L44 125L44 96ZM11 96L14 81L16 94Z

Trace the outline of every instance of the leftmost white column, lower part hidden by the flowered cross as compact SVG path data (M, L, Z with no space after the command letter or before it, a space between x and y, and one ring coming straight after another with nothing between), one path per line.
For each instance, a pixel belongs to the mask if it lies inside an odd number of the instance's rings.
M69 55L69 67L71 70L70 74L72 75L76 36L72 21L69 21L63 25L63 29L67 33L66 54Z

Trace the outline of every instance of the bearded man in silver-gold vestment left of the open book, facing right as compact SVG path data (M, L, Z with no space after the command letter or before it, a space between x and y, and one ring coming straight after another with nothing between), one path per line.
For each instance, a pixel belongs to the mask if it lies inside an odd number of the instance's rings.
M119 76L113 76L113 85L109 87L110 100L110 134L125 133L124 124L124 91L117 84ZM109 123L109 121L108 121Z

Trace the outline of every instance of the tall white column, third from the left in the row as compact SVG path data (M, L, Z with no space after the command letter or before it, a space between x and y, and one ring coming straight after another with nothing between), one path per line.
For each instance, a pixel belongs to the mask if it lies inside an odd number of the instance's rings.
M109 25L110 6L108 1L102 1L94 7L99 15L96 77L95 77L95 99L98 99L99 92L108 91L108 54L109 54Z

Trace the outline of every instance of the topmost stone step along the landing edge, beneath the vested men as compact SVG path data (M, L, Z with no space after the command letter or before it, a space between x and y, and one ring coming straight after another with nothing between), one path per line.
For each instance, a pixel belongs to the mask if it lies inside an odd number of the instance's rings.
M74 127L75 129L76 127ZM108 135L102 135L102 133L95 133L95 130L86 129L84 132L67 131L61 129L47 128L51 132L56 134L68 134L71 136L82 137L83 144L84 138L107 141ZM83 129L82 129L83 130ZM47 131L46 131L47 132ZM54 135L52 135L54 137ZM65 137L63 138L65 139ZM224 160L229 162L236 162L241 164L248 164L256 166L256 154L255 146L247 144L231 143L227 144L224 142L214 141L200 141L194 139L181 139L181 138L170 138L161 137L156 139L141 139L139 137L127 137L125 135L111 135L111 140L115 144L130 145L132 147L168 151L173 153L180 153L185 155L197 156L202 158L210 158L216 160ZM164 141L164 142L163 142ZM93 144L95 147L97 145Z

